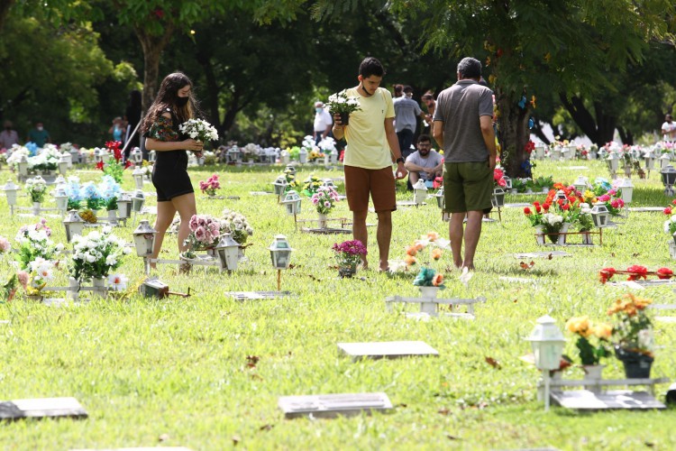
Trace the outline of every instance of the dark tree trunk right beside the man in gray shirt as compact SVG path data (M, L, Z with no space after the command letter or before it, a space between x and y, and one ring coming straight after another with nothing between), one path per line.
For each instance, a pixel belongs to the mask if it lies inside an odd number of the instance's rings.
M528 104L520 108L516 100L498 87L498 118L500 160L510 178L530 177L530 155L525 152L525 144L530 139L528 133ZM524 164L527 161L526 164Z

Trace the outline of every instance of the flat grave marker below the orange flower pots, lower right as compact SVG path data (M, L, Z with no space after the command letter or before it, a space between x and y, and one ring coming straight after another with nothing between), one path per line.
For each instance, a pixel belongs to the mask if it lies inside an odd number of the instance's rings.
M552 400L574 410L662 410L666 406L647 391L552 391Z

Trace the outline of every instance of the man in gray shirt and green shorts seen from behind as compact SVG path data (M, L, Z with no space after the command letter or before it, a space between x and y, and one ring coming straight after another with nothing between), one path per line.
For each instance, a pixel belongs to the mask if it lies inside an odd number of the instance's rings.
M474 270L474 253L481 235L483 211L491 207L496 165L493 132L493 93L479 84L481 63L465 58L458 64L458 81L436 98L434 139L443 147L443 192L451 213L449 235L453 263ZM467 216L467 229L462 222ZM464 235L465 252L462 256Z

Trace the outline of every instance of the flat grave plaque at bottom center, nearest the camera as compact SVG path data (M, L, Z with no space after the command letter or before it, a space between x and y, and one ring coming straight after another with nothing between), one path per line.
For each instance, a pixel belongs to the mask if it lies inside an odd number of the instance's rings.
M308 415L315 418L335 418L338 415L352 416L361 412L392 409L388 395L383 392L282 396L278 405L288 419Z

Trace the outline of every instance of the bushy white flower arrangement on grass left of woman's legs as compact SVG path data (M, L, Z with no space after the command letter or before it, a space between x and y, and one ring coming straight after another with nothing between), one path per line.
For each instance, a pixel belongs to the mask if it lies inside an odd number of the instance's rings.
M70 274L78 281L107 277L122 264L123 255L131 252L123 240L111 233L112 227L105 226L101 232L93 230L88 235L73 236L73 258Z

